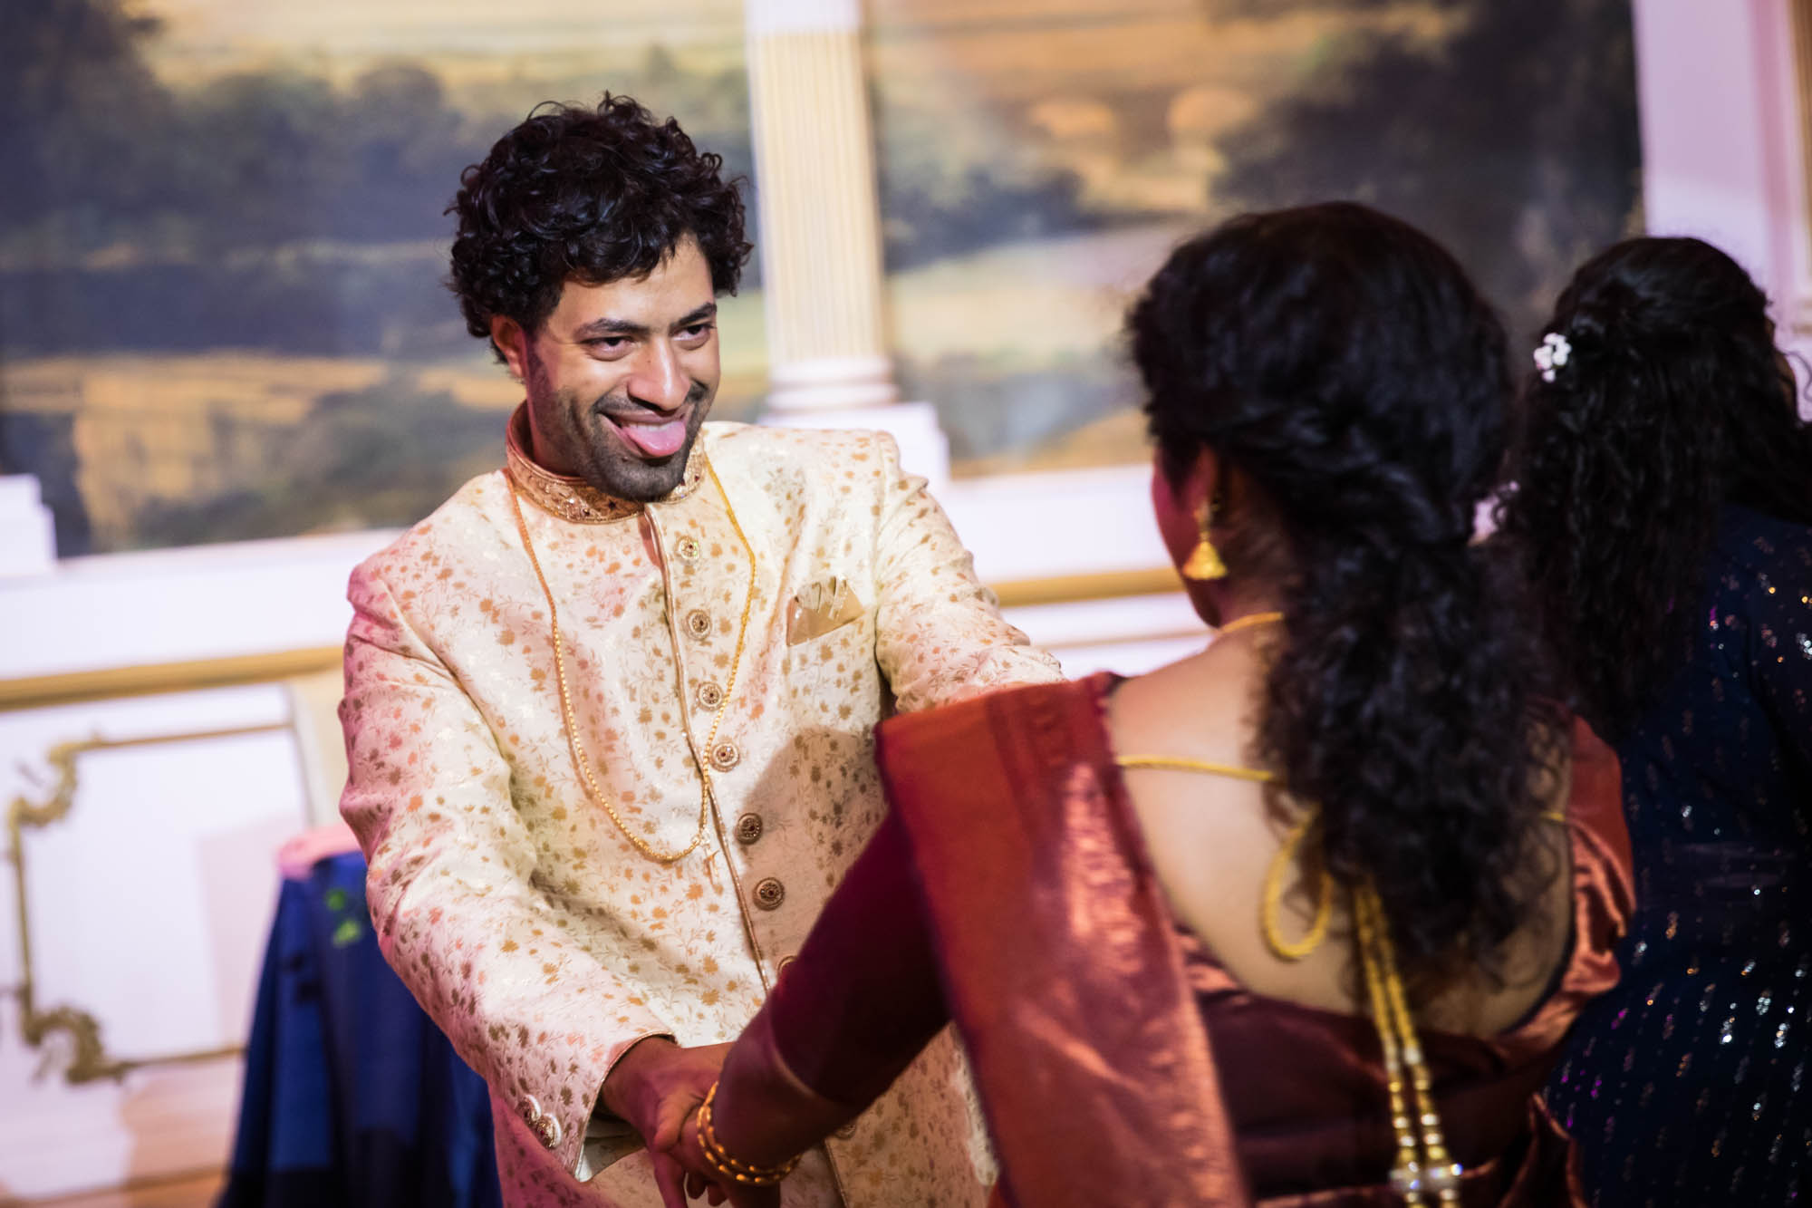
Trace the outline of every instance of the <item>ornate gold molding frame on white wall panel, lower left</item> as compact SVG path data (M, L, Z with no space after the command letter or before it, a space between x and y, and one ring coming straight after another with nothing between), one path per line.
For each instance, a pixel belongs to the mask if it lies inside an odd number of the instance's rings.
M203 1048L194 1052L158 1054L149 1057L120 1057L107 1052L101 1039L100 1019L80 1007L60 1003L56 1007L38 1005L38 987L31 963L31 898L25 892L25 831L38 831L65 818L76 804L76 760L91 751L120 751L127 747L156 747L178 742L199 742L207 738L237 738L241 735L268 735L288 731L286 722L266 726L241 726L234 729L205 729L176 735L154 735L147 738L85 738L80 742L60 742L45 756L56 774L56 785L42 802L25 796L13 798L5 816L7 858L13 863L13 885L16 892L18 916L18 954L20 985L16 989L20 1005L20 1032L33 1048L43 1045L58 1032L69 1038L63 1077L72 1085L92 1083L105 1077L120 1079L129 1072L147 1065L187 1065L194 1061L212 1061L230 1057L239 1052L237 1045L223 1048ZM56 1061L60 1054L49 1054L45 1065Z

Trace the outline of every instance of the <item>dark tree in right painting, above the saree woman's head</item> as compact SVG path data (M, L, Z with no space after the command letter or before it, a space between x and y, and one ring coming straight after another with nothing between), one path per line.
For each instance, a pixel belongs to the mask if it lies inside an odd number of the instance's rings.
M1368 0L1354 0L1364 4ZM1375 34L1221 145L1216 192L1357 198L1435 234L1526 332L1640 216L1629 0L1439 0L1451 36Z

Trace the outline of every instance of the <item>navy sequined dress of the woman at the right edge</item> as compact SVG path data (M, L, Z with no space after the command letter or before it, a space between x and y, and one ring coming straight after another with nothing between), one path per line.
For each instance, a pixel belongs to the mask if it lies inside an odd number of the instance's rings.
M1812 1190L1812 531L1730 508L1691 653L1618 745L1624 983L1547 1090L1591 1203Z

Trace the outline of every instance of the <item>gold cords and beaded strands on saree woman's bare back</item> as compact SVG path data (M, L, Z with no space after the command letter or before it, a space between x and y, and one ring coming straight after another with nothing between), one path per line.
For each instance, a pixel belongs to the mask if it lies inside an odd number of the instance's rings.
M1221 626L1216 640L1248 626L1274 624L1283 613L1250 613ZM1214 764L1174 755L1123 755L1120 767L1151 767L1167 771L1198 771L1239 780L1274 782L1276 774L1258 767ZM1316 809L1310 807L1277 847L1265 871L1265 892L1259 898L1259 925L1265 945L1279 960L1299 961L1321 947L1334 918L1334 878L1323 871L1316 880L1316 916L1301 940L1287 940L1281 925L1283 883L1296 865L1296 852L1314 829ZM1377 1027L1379 1048L1384 1056L1384 1088L1390 1096L1390 1125L1397 1137L1397 1155L1392 1161L1390 1183L1408 1204L1459 1203L1460 1164L1448 1154L1441 1132L1441 1114L1435 1108L1433 1079L1422 1059L1422 1045L1415 1034L1415 1018L1397 972L1397 950L1384 920L1384 903L1370 882L1352 891L1354 930L1357 932L1359 965L1363 969L1372 1023ZM1408 1072L1408 1081L1404 1081ZM1419 1112L1412 1115L1410 1096Z

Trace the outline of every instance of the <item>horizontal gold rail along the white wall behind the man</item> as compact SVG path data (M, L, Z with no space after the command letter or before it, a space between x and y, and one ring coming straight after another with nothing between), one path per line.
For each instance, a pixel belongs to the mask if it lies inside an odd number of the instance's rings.
M1002 608L1035 608L1040 604L1120 600L1134 595L1167 595L1181 591L1181 584L1176 579L1176 571L1163 566L1094 575L1056 575L1051 579L1009 579L993 584L993 589L1000 597ZM268 655L154 662L136 667L103 667L63 675L29 675L14 680L0 680L0 713L43 709L85 700L270 684L297 675L332 671L339 666L339 646L313 646Z

